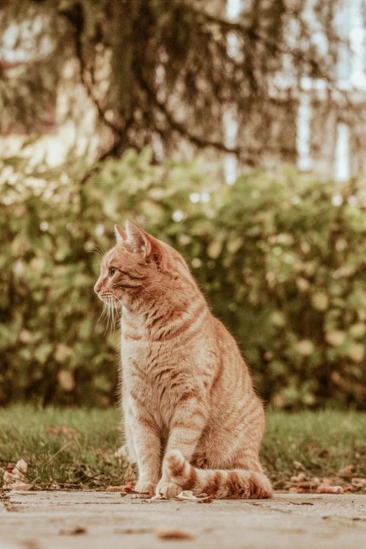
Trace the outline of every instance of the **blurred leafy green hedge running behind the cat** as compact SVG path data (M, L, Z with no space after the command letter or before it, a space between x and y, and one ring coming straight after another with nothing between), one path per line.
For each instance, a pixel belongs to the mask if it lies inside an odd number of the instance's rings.
M266 401L366 407L362 182L287 168L229 187L202 161L152 165L149 150L84 183L82 165L25 165L1 170L0 404L116 399L118 334L98 320L91 251L130 218L182 252Z

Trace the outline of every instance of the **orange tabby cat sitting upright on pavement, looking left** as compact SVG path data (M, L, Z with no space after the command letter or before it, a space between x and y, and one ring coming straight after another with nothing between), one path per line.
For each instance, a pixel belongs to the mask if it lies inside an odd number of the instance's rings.
M236 341L182 256L133 222L115 227L95 292L122 308L126 442L137 492L268 498L264 409Z

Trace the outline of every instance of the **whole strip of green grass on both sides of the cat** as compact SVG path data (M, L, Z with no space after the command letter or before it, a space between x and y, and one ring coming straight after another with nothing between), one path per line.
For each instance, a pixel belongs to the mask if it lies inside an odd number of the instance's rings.
M114 457L120 425L118 409L0 409L0 467L24 459L27 482L43 487L123 484L130 480L127 464ZM310 477L330 477L348 465L355 466L353 476L366 476L366 414L268 412L262 462L275 487L294 475L294 460Z

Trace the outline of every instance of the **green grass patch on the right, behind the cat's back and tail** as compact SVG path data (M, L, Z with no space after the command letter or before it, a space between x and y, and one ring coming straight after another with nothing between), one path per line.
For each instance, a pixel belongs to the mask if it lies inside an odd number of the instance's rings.
M299 461L316 477L353 465L366 475L366 414L362 412L267 412L262 461L273 481L294 475Z

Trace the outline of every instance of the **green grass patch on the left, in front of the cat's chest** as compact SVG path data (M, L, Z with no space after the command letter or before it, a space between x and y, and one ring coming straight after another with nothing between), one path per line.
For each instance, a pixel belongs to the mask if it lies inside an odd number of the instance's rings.
M121 484L127 464L114 452L122 442L118 409L0 409L0 466L24 459L27 482L95 488Z

